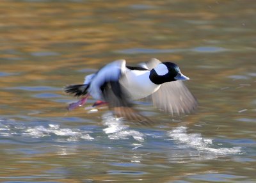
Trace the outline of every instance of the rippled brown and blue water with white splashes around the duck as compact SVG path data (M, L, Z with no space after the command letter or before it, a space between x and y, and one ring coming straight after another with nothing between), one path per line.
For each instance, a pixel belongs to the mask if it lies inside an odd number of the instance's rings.
M255 182L255 1L1 1L1 182ZM200 106L67 112L102 65L178 63Z

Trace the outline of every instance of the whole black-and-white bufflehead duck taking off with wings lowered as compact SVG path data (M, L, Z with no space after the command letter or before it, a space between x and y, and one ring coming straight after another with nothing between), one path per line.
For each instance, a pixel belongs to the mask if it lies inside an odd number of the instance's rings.
M140 115L132 106L132 100L152 99L157 108L166 113L191 113L197 106L195 97L189 92L182 80L189 80L180 72L180 68L171 62L161 62L152 58L138 67L126 65L125 60L116 60L100 68L95 74L85 77L83 84L65 87L66 93L83 98L72 103L68 109L83 106L89 96L99 100L94 106L108 104L116 116L151 122Z

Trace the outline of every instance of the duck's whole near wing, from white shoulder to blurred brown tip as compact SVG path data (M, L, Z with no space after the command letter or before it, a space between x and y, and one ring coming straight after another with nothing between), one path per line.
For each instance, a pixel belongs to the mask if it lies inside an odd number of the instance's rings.
M100 90L103 98L108 102L109 109L113 110L114 115L139 122L143 125L148 125L152 123L152 121L133 108L132 101L129 99L127 91L119 83L121 77L125 76L125 69L125 60L119 60L99 70L97 77L99 74L104 76L100 77L104 79L99 81L99 83L101 83ZM92 81L91 84L95 84L93 82L94 81Z

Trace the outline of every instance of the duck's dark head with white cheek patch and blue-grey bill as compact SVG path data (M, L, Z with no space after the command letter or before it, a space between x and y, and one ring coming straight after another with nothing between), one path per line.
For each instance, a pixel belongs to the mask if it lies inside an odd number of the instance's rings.
M170 81L189 80L180 72L180 68L172 62L162 62L150 71L150 80L155 84L163 84Z

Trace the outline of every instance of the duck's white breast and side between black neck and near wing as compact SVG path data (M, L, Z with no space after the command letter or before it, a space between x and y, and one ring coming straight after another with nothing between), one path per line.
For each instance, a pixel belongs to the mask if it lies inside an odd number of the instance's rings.
M132 100L145 98L159 89L160 85L152 83L149 74L149 70L127 69L124 77L120 79Z

